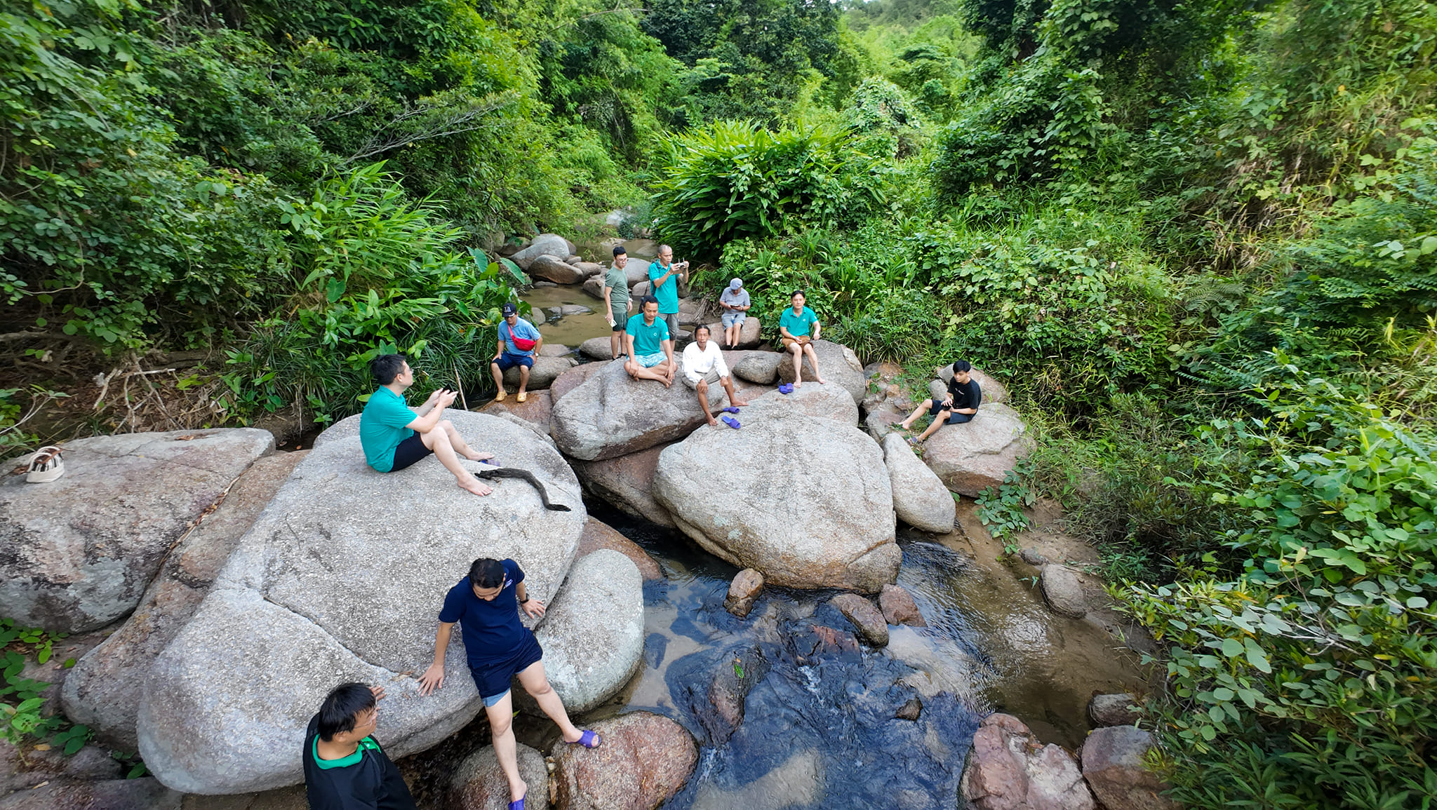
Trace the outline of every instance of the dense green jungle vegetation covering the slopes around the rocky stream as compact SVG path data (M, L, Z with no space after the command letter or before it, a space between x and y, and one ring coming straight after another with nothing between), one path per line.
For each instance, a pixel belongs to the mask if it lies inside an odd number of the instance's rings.
M624 207L766 323L805 287L1012 388L1013 491L1165 651L1174 797L1437 801L1437 6L7 0L0 45L7 447L157 349L231 422L355 412L378 350L483 379L493 248Z

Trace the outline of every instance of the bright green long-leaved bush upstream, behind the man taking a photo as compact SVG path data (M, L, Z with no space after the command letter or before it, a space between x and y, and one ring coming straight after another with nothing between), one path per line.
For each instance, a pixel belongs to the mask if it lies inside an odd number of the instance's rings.
M852 224L884 201L882 169L841 132L727 121L675 136L665 158L658 233L703 256L733 240Z

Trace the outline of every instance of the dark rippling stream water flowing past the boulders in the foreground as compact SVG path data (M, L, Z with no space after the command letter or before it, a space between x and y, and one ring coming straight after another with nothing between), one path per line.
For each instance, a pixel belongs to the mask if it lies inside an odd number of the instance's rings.
M892 628L890 645L872 649L851 642L832 592L766 589L737 619L723 608L737 569L674 531L591 508L665 574L645 583L644 669L589 717L642 709L694 734L698 767L665 807L953 807L989 711L1075 748L1091 694L1138 684L1106 633L1052 616L1009 572L974 564L960 536L900 537L898 583L930 626ZM716 681L747 689L731 735L711 701ZM895 718L914 698L918 720Z

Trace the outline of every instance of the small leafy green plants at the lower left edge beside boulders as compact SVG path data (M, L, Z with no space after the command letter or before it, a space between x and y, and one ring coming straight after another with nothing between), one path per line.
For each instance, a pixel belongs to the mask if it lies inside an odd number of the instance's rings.
M66 755L79 751L89 741L85 725L70 725L62 715L45 711L42 692L49 686L23 675L26 661L33 655L37 664L50 661L55 642L65 633L47 633L36 628L22 628L13 619L0 618L0 740L20 747L29 738L47 740ZM66 661L73 666L73 661Z

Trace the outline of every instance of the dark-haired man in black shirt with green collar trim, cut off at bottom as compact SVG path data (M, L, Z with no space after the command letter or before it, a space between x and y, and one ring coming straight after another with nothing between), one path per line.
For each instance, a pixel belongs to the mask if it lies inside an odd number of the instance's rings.
M310 810L415 810L399 768L375 741L384 686L341 684L305 731Z

